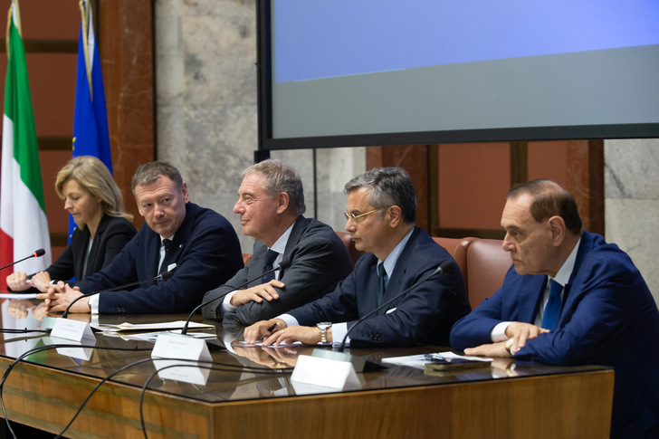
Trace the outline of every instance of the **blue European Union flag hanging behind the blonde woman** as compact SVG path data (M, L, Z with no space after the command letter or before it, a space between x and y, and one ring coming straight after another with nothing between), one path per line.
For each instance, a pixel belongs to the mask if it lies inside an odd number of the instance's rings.
M78 72L75 86L73 118L73 157L98 157L112 172L108 112L105 108L103 75L96 47L94 25L89 2L81 2L81 28L78 42ZM69 218L69 241L75 223Z

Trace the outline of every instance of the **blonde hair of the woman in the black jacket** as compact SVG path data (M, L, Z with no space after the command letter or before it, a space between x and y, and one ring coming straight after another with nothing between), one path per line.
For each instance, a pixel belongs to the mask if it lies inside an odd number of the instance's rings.
M123 207L123 196L114 182L108 168L96 157L73 157L64 165L55 179L57 195L64 199L62 186L69 180L75 180L80 186L90 192L92 196L100 198L100 205L105 215L118 216L133 220L133 215L126 213ZM85 224L79 224L84 229Z

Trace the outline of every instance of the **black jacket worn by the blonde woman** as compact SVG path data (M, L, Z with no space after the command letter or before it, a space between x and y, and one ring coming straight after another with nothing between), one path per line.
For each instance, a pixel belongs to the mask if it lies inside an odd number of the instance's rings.
M135 226L126 218L103 215L100 218L94 242L91 244L87 270L82 272L85 254L90 245L90 230L89 228L84 230L76 228L73 231L69 246L57 258L57 261L46 269L46 272L51 275L51 279L57 281L68 281L75 276L75 279L80 282L87 276L110 265L114 257L119 254L124 245L137 232Z

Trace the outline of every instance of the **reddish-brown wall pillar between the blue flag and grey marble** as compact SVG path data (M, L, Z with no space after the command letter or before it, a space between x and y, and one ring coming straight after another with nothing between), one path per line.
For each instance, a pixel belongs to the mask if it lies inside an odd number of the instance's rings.
M99 0L100 64L108 107L114 178L126 210L142 224L130 180L156 158L153 2Z

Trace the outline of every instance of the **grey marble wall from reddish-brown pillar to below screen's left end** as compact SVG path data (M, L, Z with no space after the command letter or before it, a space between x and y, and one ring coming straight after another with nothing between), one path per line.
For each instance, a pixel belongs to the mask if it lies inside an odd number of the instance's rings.
M157 0L155 15L158 158L181 170L192 201L229 219L252 253L232 208L257 148L255 3ZM300 172L305 215L342 230L343 184L364 171L364 148L318 150L315 178L310 149L272 157Z

